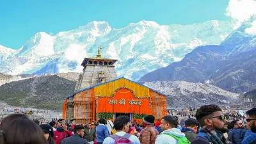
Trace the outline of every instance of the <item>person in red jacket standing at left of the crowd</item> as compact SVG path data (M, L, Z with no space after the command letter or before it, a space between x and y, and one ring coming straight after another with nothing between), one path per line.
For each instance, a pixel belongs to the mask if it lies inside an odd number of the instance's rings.
M56 131L54 131L53 140L56 144L60 144L60 142L69 136L72 136L72 132L67 130L67 124L62 124L63 119L59 119L57 121L58 127ZM65 125L65 126L64 126Z

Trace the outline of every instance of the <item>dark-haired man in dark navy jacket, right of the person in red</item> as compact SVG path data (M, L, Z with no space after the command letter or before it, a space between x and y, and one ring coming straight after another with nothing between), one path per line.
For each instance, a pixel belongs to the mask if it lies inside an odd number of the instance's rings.
M61 144L88 144L87 140L84 139L83 136L84 136L83 125L75 125L74 135L62 140Z

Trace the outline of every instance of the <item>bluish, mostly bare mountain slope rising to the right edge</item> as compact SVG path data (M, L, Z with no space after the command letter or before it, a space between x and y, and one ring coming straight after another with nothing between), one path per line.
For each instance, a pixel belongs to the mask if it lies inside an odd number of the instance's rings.
M253 28L255 18L252 17L230 33L221 45L196 47L181 61L150 72L140 81L210 83L235 93L254 90L256 33L252 32L256 29Z

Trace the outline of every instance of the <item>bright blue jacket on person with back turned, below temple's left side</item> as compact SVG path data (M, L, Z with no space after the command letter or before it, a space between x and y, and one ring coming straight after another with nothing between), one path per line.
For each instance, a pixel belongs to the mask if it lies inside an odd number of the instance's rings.
M97 142L102 143L109 136L108 127L104 124L99 124L96 127Z

